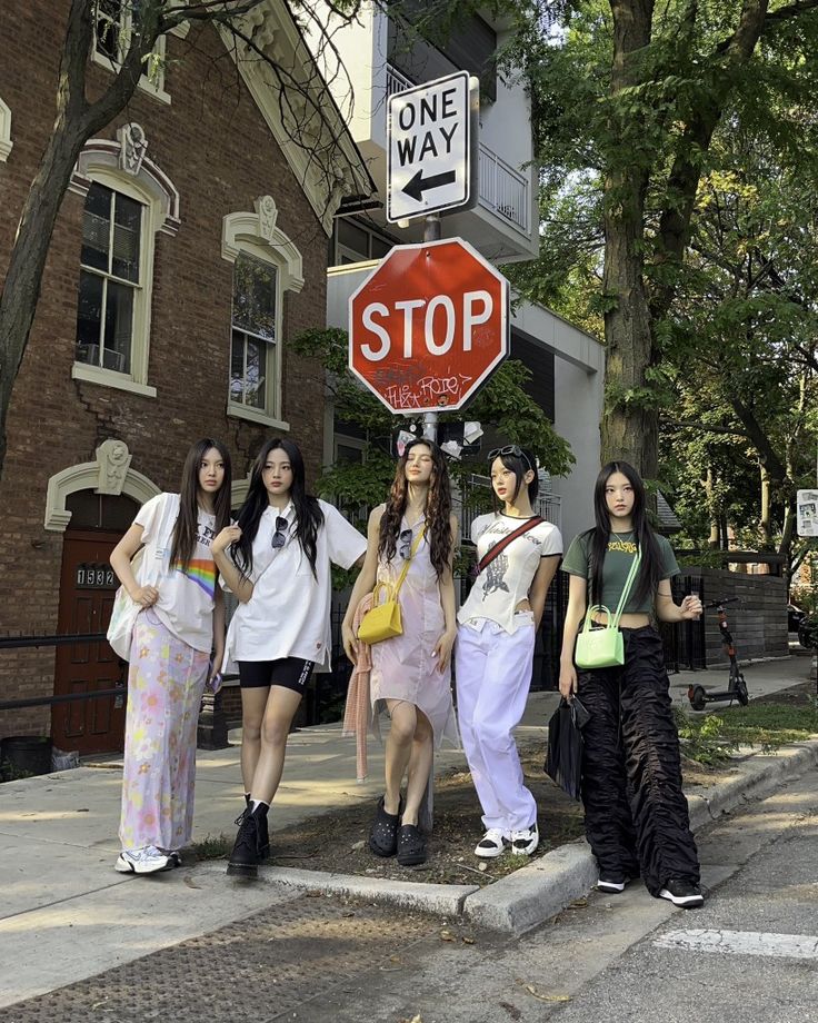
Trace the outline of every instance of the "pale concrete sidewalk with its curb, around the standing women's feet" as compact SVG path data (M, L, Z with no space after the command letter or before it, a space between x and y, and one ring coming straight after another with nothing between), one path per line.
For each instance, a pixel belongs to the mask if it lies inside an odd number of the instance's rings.
M804 682L809 668L808 657L748 666L750 696ZM680 705L687 702L691 679L721 688L726 675L719 669L671 676L674 698ZM520 739L545 743L557 702L553 693L531 694ZM818 747L806 746L810 748L778 757L752 757L751 769L737 773L730 792L711 791L706 798L691 792L694 818L701 824L751 788L775 784L774 774L796 769L802 759L811 762ZM438 772L462 766L459 751L446 751L436 759ZM373 802L383 775L382 752L375 742L369 769L368 782L358 785L355 743L341 736L340 725L295 733L273 804L273 834L277 827L338 807ZM366 894L443 914L465 910L476 923L519 932L548 918L595 880L583 843L555 850L482 891L331 877L286 867L267 867L265 882L241 885L227 880L221 863L153 877L120 875L113 872L120 784L121 768L110 762L0 785L0 1006L242 920L290 900L293 886ZM231 835L241 808L238 747L200 753L194 841Z

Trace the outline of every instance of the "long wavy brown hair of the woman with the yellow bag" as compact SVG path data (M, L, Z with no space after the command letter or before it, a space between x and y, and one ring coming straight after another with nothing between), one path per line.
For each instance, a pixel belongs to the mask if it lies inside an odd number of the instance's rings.
M426 540L429 544L429 557L435 572L440 578L449 567L451 555L451 485L449 470L446 467L443 453L432 440L418 437L411 440L403 449L395 469L395 479L387 498L387 506L380 520L380 538L378 540L378 557L390 560L395 557L400 533L400 520L406 512L409 495L409 481L406 478L406 464L409 451L418 444L425 444L431 451L431 477L429 478L429 493L426 497Z

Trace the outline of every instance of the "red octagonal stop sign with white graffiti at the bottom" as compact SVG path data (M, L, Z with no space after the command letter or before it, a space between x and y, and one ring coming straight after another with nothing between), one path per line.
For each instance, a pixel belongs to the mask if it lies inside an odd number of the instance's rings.
M462 408L508 355L508 281L459 238L399 245L349 299L349 368L393 413Z

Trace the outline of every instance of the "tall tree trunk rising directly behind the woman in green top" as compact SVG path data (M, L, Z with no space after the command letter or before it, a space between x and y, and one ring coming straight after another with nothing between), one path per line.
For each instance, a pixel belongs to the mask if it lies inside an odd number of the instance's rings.
M638 81L638 57L650 42L652 0L610 0L614 16L611 100ZM620 128L627 140L627 112ZM624 142L619 142L620 146ZM603 291L612 308L605 315L607 344L606 398L602 417L602 461L624 459L647 478L657 475L659 417L639 398L652 362L648 296L642 275L647 160L617 161L609 170L605 203Z

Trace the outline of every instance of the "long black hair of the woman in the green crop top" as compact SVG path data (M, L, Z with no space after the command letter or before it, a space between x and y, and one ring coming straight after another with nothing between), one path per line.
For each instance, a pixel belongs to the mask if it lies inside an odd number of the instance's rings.
M621 473L634 489L631 522L634 524L634 537L642 555L634 599L641 603L647 597L652 598L656 593L660 583L661 565L659 564L659 545L656 542L654 530L648 524L645 484L634 466L628 465L627 461L609 461L608 465L602 466L593 486L593 517L597 524L593 529L589 529L586 533L586 536L590 539L591 552L591 593L589 603L596 603L602 598L602 563L608 552L608 540L610 538L610 512L605 499L605 488L615 473Z

